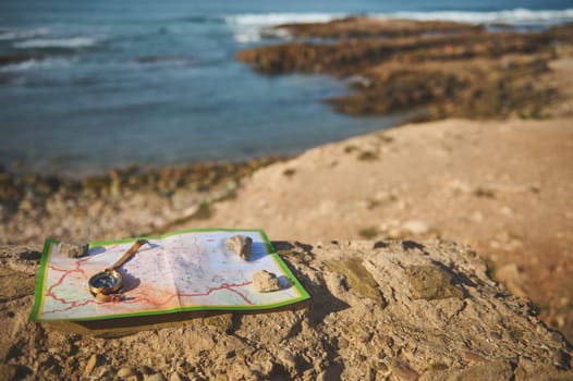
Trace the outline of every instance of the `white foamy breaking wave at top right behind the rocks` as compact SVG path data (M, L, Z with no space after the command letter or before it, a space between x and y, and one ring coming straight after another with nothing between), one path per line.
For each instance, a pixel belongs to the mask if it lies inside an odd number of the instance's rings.
M468 24L541 24L551 25L573 22L573 9L527 10L514 9L495 12L435 11L435 12L393 12L371 16L379 19L409 19L418 21L454 21Z

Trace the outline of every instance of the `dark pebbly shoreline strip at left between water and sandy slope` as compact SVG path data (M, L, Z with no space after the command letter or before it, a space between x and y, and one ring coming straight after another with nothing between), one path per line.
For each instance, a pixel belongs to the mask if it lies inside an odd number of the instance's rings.
M209 216L241 181L284 158L166 167L130 167L71 179L0 168L0 243L93 242L166 231Z

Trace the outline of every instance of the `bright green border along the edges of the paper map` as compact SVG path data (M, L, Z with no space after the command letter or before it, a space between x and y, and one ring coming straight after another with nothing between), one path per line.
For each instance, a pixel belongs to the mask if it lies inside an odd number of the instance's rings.
M89 318L77 318L77 319L40 319L40 308L42 307L42 300L45 297L45 288L46 288L46 274L48 270L48 258L50 255L50 248L51 245L58 244L59 241L53 238L46 238L46 242L44 244L44 250L41 253L40 258L40 265L38 269L38 276L36 280L36 291L34 296L34 306L32 307L32 312L29 315L29 320L33 322L36 321L98 321L98 320L110 320L110 319L122 319L122 318L133 318L133 317L145 317L145 316L154 316L154 315L167 315L167 314L176 314L176 312L191 312L191 311L256 311L256 310L268 310L279 307L284 307L291 304L295 304L302 300L306 300L310 298L310 295L304 290L301 282L294 276L291 269L284 263L282 258L277 254L275 248L272 247L272 244L270 243L267 233L265 233L261 229L190 229L190 230L182 230L176 232L170 232L161 235L154 235L154 236L142 236L142 237L133 237L133 238L122 238L122 239L113 239L113 241L98 241L89 243L89 247L95 246L105 246L105 245L114 245L114 244L124 244L134 242L137 239L162 239L167 238L173 235L181 235L186 233L212 233L212 232L251 232L251 233L259 233L263 237L263 241L265 242L265 245L267 247L267 250L269 251L269 255L272 256L277 265L281 268L281 270L284 272L289 281L291 282L292 286L295 287L295 290L298 292L300 296L293 299L289 299L288 302L280 302L280 303L273 303L268 305L258 305L258 306L194 306L194 307L178 307L178 308L171 308L171 309L163 309L163 310L155 310L155 311L142 311L142 312L134 312L134 314L118 314L118 315L108 315L103 317L89 317Z

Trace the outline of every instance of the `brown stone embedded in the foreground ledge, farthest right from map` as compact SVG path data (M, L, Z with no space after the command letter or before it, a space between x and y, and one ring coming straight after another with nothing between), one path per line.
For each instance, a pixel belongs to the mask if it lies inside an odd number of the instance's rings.
M463 298L462 290L452 284L452 275L437 266L411 266L406 270L414 299Z

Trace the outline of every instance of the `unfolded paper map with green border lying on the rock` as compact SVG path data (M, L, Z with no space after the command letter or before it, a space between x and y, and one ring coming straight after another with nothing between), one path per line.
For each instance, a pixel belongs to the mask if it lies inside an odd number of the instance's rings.
M248 260L227 248L225 241L233 235L253 239ZM118 260L136 239L92 243L80 258L60 254L58 242L47 239L31 319L86 321L192 310L257 310L309 297L261 230L193 230L145 237L147 244L119 269L123 299L94 297L89 278ZM257 292L253 274L260 270L275 273L280 290Z

